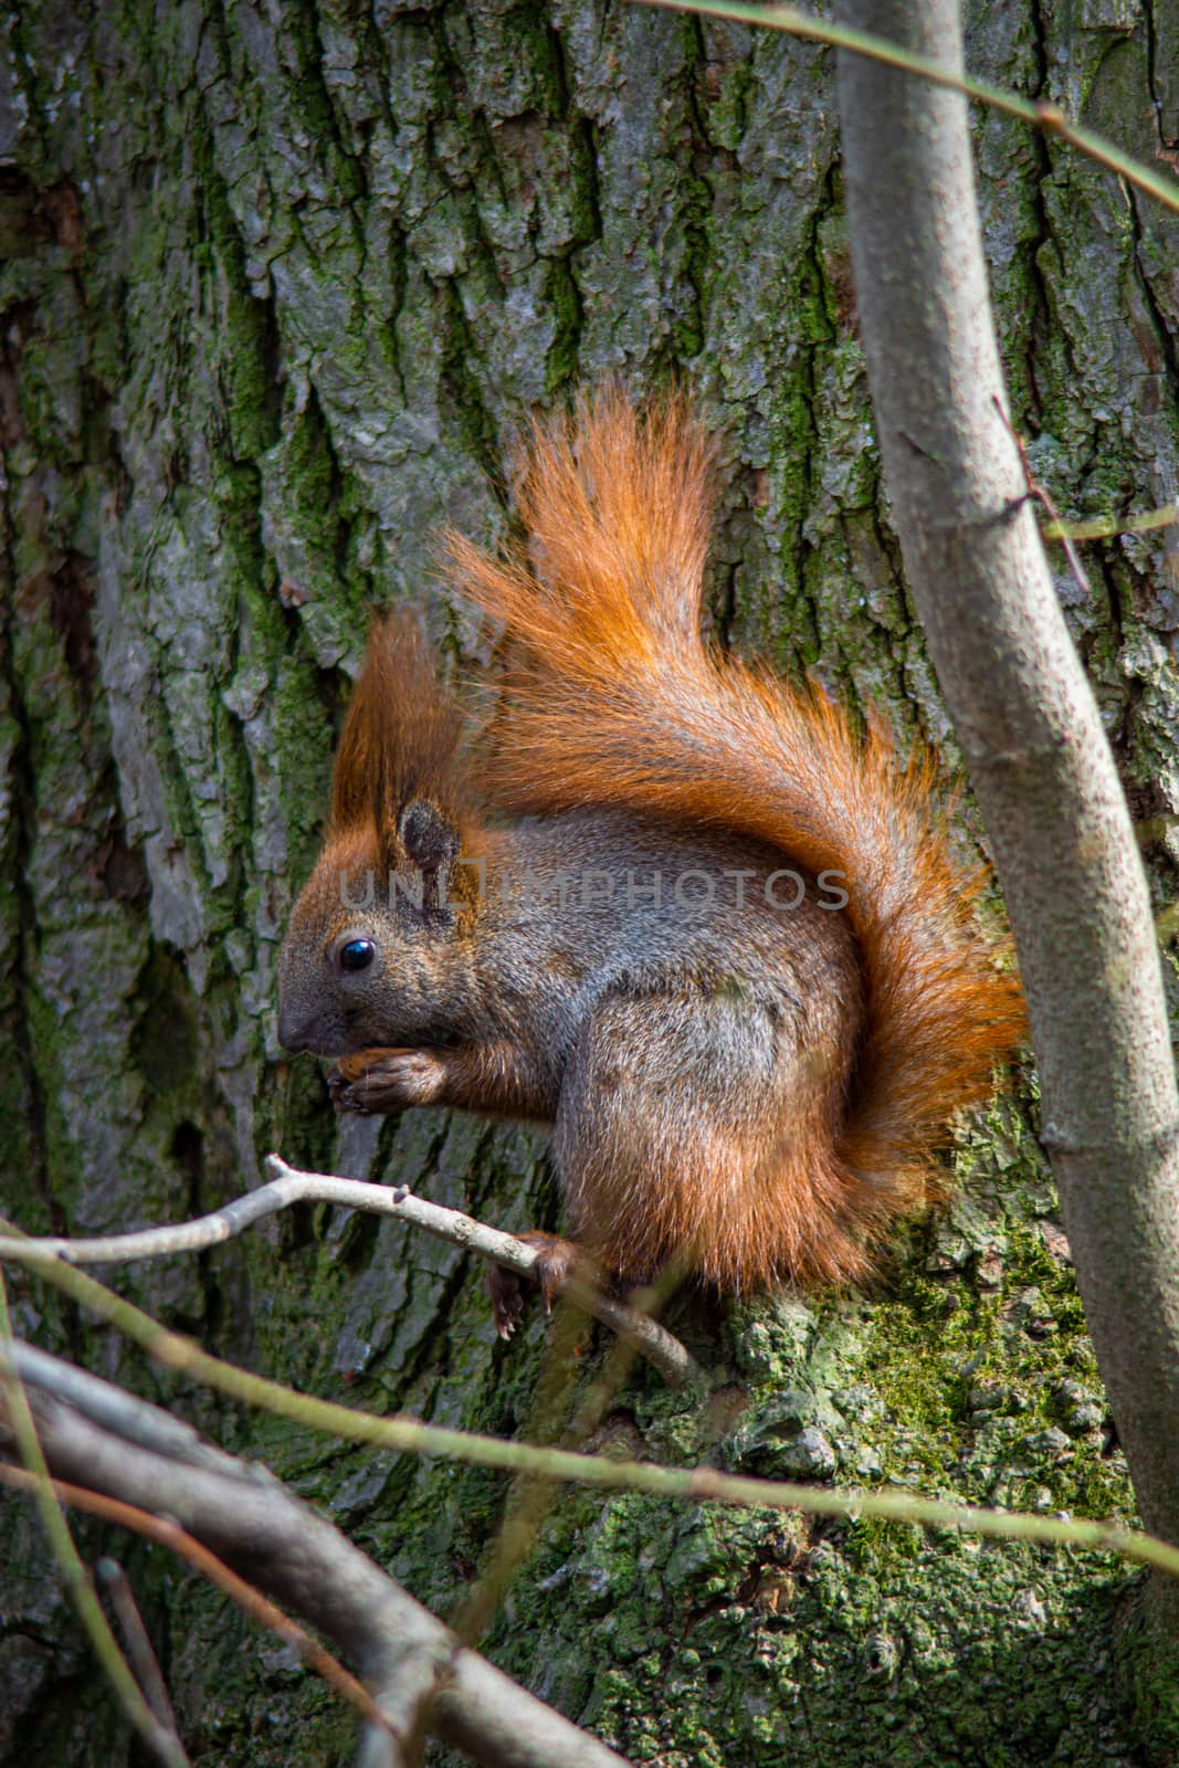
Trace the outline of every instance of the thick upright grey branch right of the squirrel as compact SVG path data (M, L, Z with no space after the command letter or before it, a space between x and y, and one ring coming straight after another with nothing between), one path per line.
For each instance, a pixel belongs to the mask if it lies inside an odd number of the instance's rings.
M953 0L845 23L958 81ZM967 110L840 57L848 233L880 453L930 656L986 819L1043 1142L1147 1528L1179 1542L1179 1098L1142 861L1000 419Z

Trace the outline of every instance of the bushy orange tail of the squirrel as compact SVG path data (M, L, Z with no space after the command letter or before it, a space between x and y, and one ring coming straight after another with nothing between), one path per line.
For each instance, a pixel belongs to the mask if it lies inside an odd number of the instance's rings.
M930 1185L949 1117L1023 1034L1018 983L972 925L981 873L951 856L930 751L900 766L811 691L700 640L712 449L682 396L608 389L537 426L518 481L530 559L460 537L463 592L520 652L493 762L520 812L615 803L705 822L843 873L868 1022L838 1156L891 1199Z

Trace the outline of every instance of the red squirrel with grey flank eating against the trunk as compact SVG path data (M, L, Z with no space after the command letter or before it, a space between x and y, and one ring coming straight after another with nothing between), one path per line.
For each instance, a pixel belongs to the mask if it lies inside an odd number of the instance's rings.
M574 1255L620 1285L863 1280L1023 1038L933 753L702 642L714 469L682 392L534 426L527 550L449 536L506 629L490 751L378 619L281 955L279 1041L338 1061L338 1109L551 1126L576 1243L534 1236L546 1301Z

